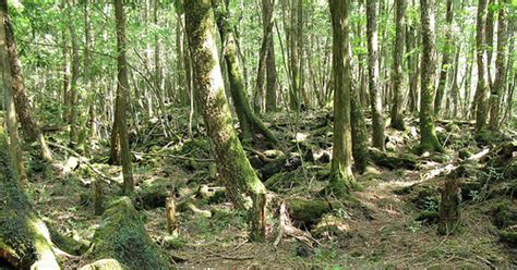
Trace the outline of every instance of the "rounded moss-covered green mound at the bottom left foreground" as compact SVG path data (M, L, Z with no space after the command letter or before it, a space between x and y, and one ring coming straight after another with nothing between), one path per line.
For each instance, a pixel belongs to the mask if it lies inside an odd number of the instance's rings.
M165 255L153 243L129 197L113 200L95 232L87 259L116 259L127 269L168 269Z

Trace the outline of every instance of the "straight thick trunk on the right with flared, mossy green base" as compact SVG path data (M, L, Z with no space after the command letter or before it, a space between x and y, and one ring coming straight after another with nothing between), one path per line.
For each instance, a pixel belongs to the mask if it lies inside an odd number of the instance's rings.
M434 33L434 0L420 0L422 23L422 68L420 88L420 146L421 152L442 151L434 127L434 83L436 79L436 34Z

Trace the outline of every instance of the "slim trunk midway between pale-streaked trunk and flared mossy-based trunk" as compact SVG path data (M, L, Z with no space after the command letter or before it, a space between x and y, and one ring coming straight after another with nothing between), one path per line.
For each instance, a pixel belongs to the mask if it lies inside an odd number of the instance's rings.
M404 34L406 30L406 0L396 0L396 38L393 50L393 105L392 105L392 126L396 130L406 130L402 115L402 54L404 54Z

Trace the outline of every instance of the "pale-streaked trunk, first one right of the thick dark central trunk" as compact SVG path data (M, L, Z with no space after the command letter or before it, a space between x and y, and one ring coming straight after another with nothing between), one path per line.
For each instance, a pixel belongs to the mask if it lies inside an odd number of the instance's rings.
M366 0L368 81L372 109L372 145L380 150L384 150L383 105L381 90L378 89L376 2L377 0Z

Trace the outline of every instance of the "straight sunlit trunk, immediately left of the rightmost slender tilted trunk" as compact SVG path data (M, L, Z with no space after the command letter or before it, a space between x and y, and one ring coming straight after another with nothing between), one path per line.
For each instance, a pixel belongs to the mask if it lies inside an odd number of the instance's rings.
M477 102L476 110L476 130L482 131L486 126L486 119L489 114L489 83L486 70L486 0L478 1L478 23L476 34L476 56L478 60L478 87L476 88L474 102Z

